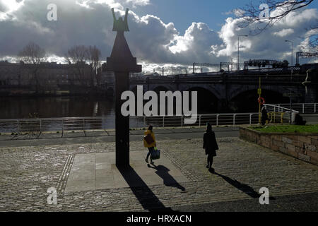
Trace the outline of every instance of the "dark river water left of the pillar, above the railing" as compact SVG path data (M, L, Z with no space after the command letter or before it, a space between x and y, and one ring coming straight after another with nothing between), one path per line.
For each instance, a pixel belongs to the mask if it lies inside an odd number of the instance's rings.
M114 101L102 97L0 97L0 119L114 117Z

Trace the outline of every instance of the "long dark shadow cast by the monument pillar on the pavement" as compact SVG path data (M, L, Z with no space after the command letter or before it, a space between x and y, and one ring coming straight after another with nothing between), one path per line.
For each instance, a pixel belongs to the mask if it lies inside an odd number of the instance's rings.
M149 189L131 166L119 169L119 172L145 210L150 212L172 212L171 208L166 208L161 203L159 198L153 194L153 191Z

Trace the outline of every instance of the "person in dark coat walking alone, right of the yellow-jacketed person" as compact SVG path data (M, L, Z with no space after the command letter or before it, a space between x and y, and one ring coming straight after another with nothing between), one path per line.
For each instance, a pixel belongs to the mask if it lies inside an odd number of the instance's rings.
M212 131L211 124L207 124L206 133L204 133L204 150L206 150L206 155L208 155L208 168L210 171L214 171L212 168L213 157L216 156L216 150L218 150L218 143L216 143L216 134Z

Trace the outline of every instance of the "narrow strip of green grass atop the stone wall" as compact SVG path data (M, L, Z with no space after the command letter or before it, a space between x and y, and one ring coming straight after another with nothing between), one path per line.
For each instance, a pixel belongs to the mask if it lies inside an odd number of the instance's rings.
M250 126L249 129L254 129L256 131L265 133L318 133L318 125Z

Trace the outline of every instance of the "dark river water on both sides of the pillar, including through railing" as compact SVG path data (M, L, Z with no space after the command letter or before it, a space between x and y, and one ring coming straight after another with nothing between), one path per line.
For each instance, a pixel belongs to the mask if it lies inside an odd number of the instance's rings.
M160 106L159 106L160 107ZM210 113L210 112L200 112ZM214 112L211 112L214 113ZM0 119L30 119L30 118L61 118L61 117L107 117L89 123L86 121L87 128L90 129L92 124L98 124L95 129L114 129L114 100L107 100L105 97L90 97L90 96L73 96L73 97L0 97ZM94 119L99 120L99 119ZM238 122L237 118L237 122ZM247 123L248 121L242 121ZM51 120L50 120L51 121ZM180 126L181 117L165 117L161 118L146 118L131 117L131 128L145 128L148 124L153 126ZM216 116L206 118L202 117L201 124L209 121L216 123ZM232 116L220 118L219 124L232 124ZM199 119L196 124L199 123ZM49 122L42 125L47 131L54 131L54 128L61 127L62 121ZM10 122L0 122L0 133L17 132L23 127L28 129L29 124L18 123L16 120ZM33 126L40 126L35 124ZM81 125L80 125L81 127ZM81 127L82 128L82 127Z

